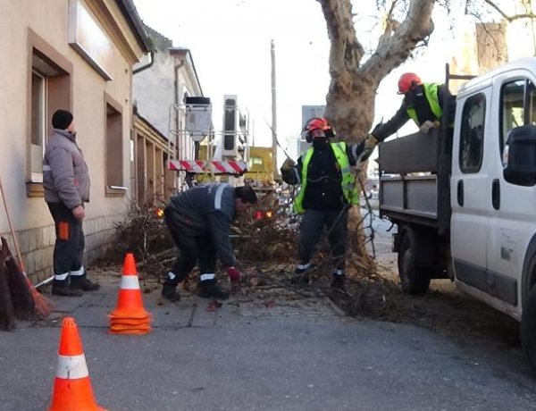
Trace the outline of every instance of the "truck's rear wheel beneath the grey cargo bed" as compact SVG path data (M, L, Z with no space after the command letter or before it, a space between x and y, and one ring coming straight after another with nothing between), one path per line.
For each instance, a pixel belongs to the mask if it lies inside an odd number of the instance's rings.
M422 296L430 287L430 274L417 264L419 253L425 252L418 247L419 243L414 230L403 231L398 249L398 275L404 292Z

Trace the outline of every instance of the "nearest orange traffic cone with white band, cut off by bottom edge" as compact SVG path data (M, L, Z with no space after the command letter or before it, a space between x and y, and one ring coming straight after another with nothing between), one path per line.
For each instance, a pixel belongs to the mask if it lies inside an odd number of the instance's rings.
M105 411L96 404L86 356L74 318L65 317L58 349L52 404L48 411Z

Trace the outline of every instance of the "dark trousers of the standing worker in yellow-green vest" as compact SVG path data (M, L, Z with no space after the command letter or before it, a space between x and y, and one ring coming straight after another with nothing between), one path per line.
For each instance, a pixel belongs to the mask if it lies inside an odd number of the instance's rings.
M306 210L300 227L298 256L300 264L307 264L314 253L314 247L322 235L324 227L328 231L331 258L334 267L344 270L348 208L342 210Z

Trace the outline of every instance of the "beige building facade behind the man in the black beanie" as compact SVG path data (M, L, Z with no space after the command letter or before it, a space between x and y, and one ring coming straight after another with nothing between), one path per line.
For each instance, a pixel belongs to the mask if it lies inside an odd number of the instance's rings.
M147 33L131 0L2 1L0 21L3 211L27 273L40 282L52 275L55 238L42 187L52 114L74 114L89 167L88 263L130 206L132 71L148 52ZM7 213L0 212L0 233L13 242Z

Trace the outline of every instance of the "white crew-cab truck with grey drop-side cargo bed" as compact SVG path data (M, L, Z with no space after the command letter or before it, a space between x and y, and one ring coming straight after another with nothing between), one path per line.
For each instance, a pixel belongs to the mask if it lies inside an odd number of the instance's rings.
M521 321L536 365L536 58L469 80L454 122L386 141L379 155L403 289L450 278Z

